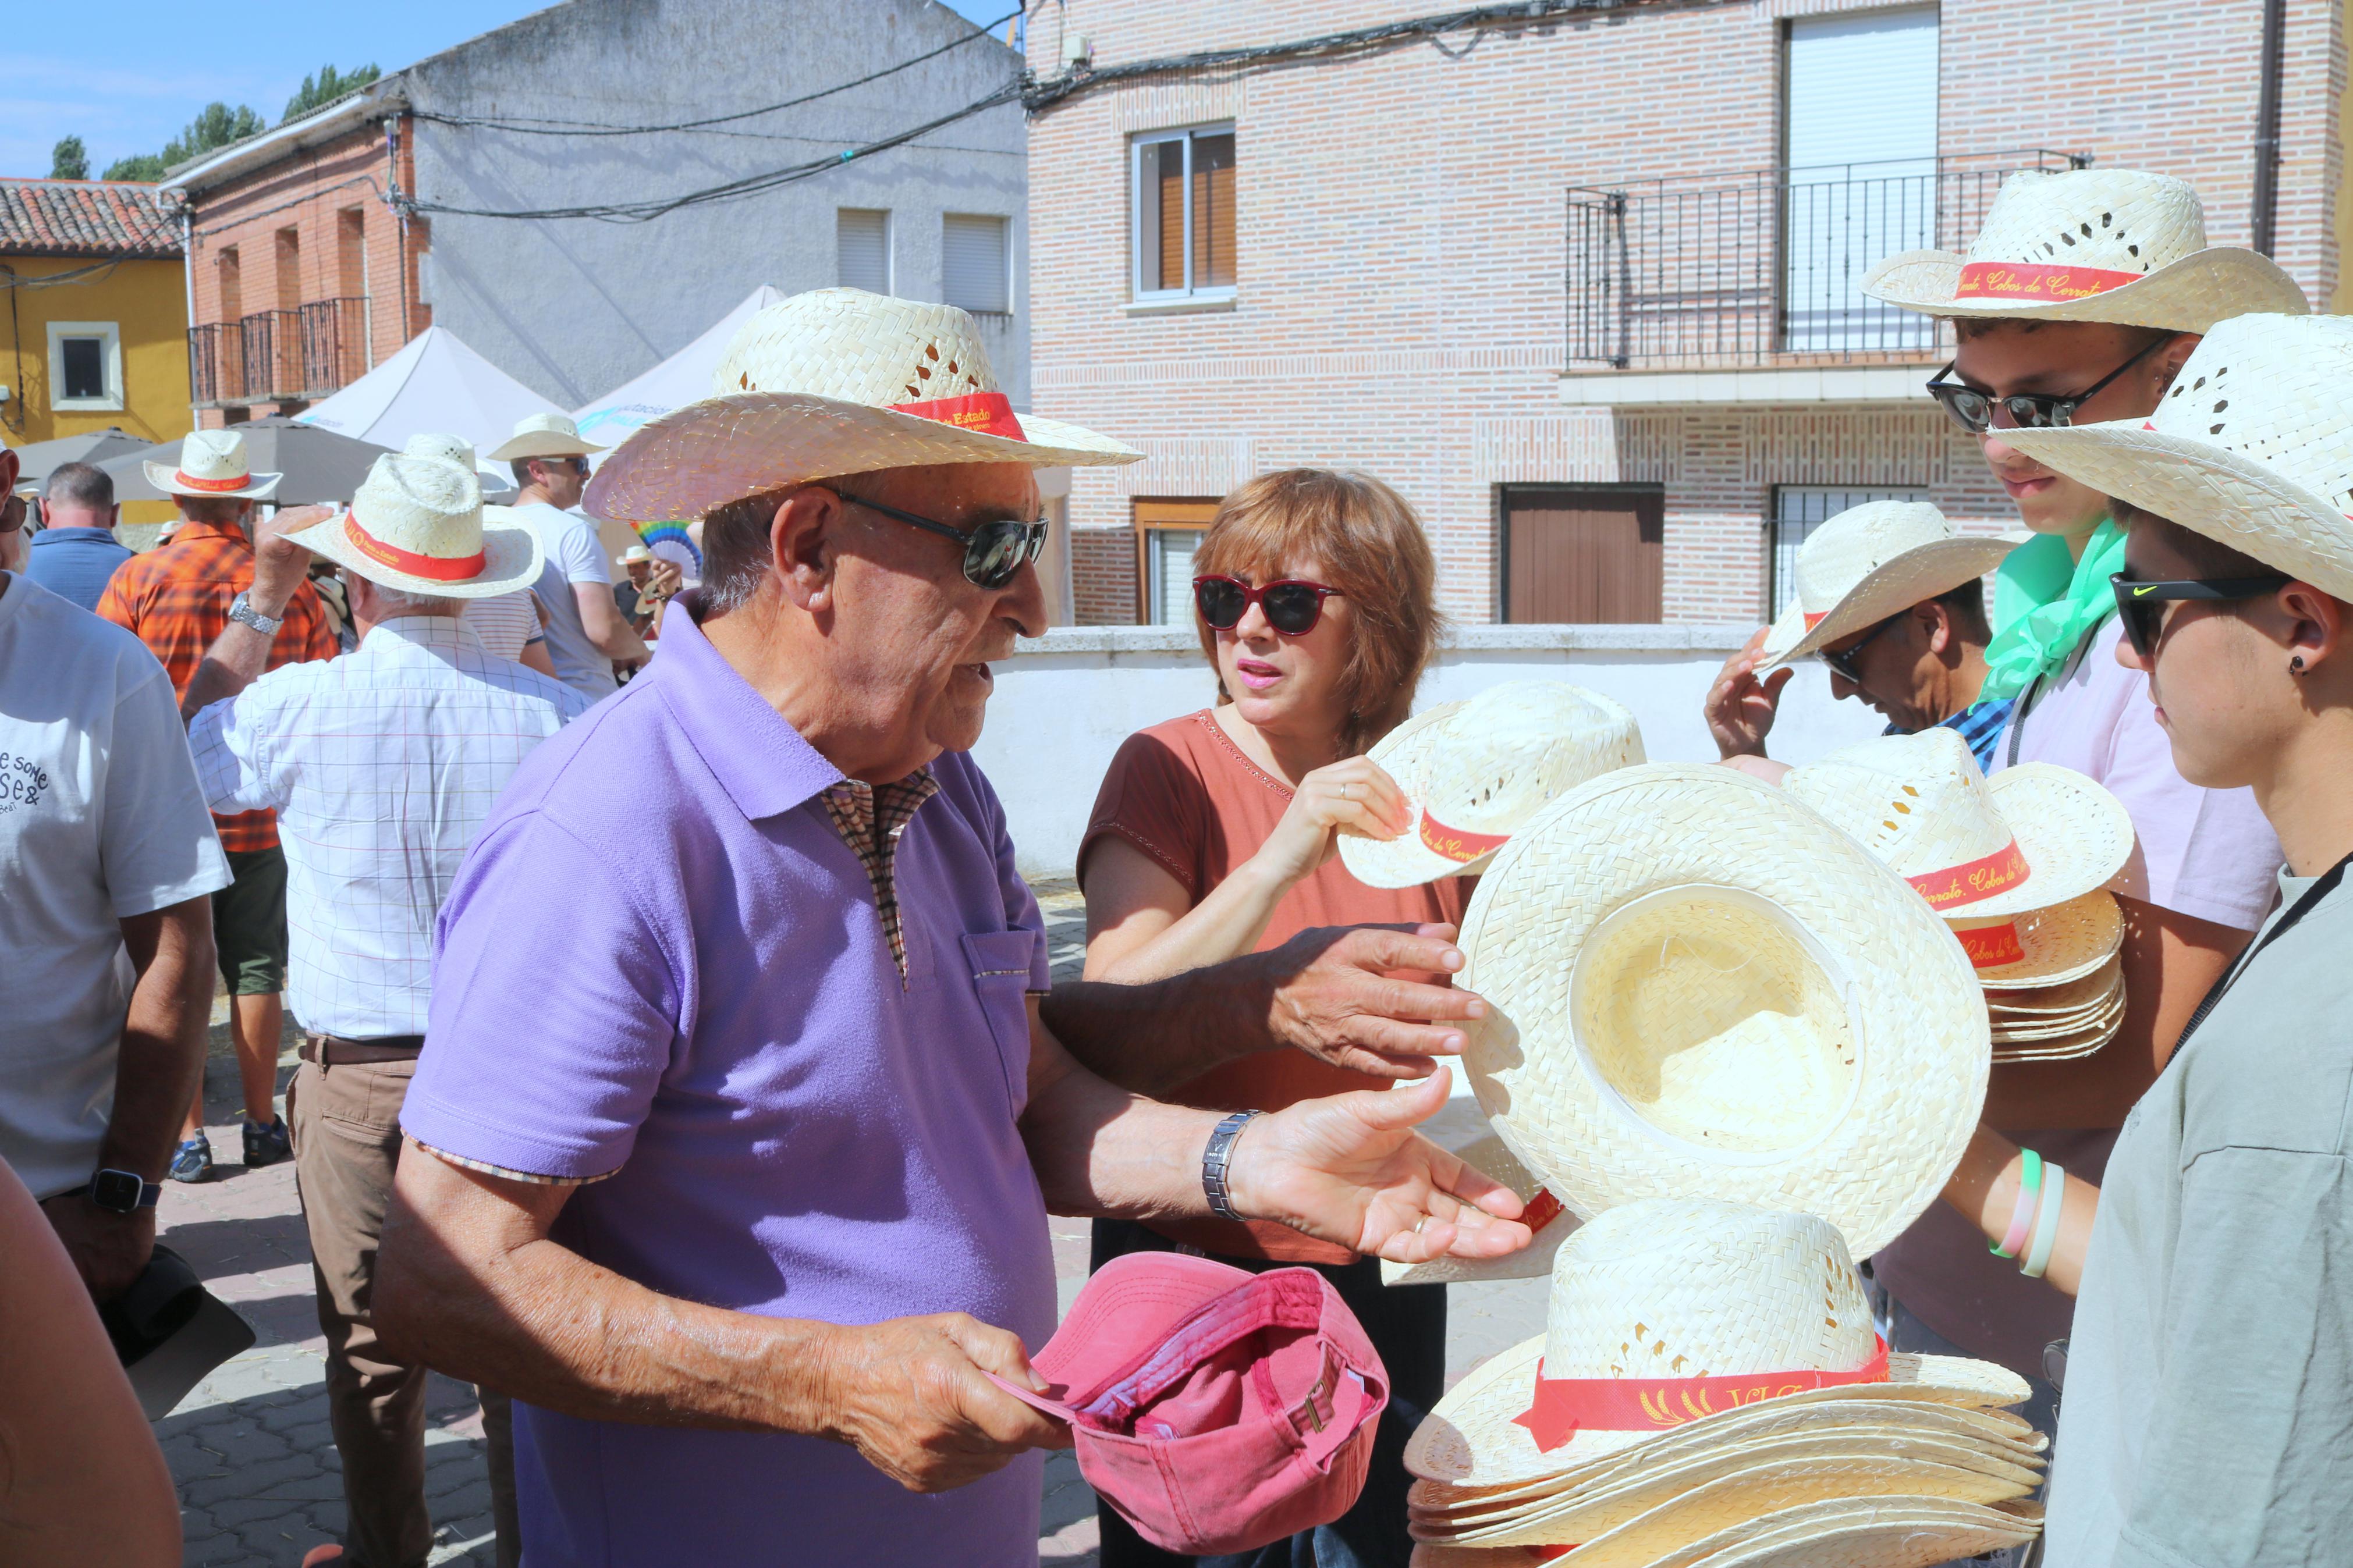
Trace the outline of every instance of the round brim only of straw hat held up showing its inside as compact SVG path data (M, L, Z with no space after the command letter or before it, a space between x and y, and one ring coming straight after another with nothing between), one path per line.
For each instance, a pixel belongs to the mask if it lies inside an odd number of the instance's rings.
M1774 907L1831 961L1852 1030L1849 1091L1781 1147L1668 1135L1579 1039L1572 978L1586 938L1619 907L1678 889ZM1984 1107L1986 1004L1953 931L1824 816L1734 769L1631 766L1551 802L1480 879L1461 947L1461 985L1489 1009L1468 1025L1471 1088L1579 1215L1647 1197L1725 1199L1821 1215L1868 1258L1937 1201ZM1739 1070L1718 1058L1711 1086L1734 1093ZM1762 1114L1786 1095L1760 1063L1746 1103Z

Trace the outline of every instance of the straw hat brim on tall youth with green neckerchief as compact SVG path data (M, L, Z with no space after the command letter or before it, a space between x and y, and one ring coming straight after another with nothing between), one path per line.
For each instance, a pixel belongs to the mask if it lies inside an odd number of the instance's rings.
M1925 315L1974 315L2021 322L2111 322L2162 331L2209 331L2214 322L2249 310L2306 315L2313 306L2297 280L2271 256L2235 244L2212 244L2127 284L2082 299L1953 299L1960 292L1955 252L1904 252L1864 273L1866 296Z

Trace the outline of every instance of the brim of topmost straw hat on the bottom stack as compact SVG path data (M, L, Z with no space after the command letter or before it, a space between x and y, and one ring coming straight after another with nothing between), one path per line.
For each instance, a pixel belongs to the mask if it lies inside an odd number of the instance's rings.
M1732 1441L1734 1422L1791 1415L1828 1401L1929 1401L1944 1406L2000 1408L2026 1403L2026 1380L1991 1361L1955 1356L1887 1356L1887 1382L1849 1382L1765 1399L1739 1410L1708 1415L1664 1432L1579 1432L1553 1450L1537 1448L1527 1427L1513 1425L1537 1392L1544 1335L1522 1340L1447 1389L1405 1443L1405 1467L1426 1481L1452 1486L1515 1486L1544 1481L1593 1460L1624 1455L1645 1443L1678 1436L1689 1443ZM1744 1425L1741 1432L1748 1427Z

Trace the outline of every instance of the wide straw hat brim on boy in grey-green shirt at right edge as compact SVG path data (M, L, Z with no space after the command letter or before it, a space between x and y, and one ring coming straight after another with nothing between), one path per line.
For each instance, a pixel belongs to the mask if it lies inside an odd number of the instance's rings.
M2019 451L2068 480L2353 599L2346 512L2264 463L2141 421L2002 433L2009 435L2021 437L2012 442Z

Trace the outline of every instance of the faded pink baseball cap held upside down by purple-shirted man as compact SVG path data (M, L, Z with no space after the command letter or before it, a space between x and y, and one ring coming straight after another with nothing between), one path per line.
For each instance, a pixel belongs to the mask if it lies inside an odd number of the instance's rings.
M1315 1269L1113 1258L1007 1394L1071 1422L1078 1472L1165 1552L1332 1523L1365 1490L1388 1371Z

